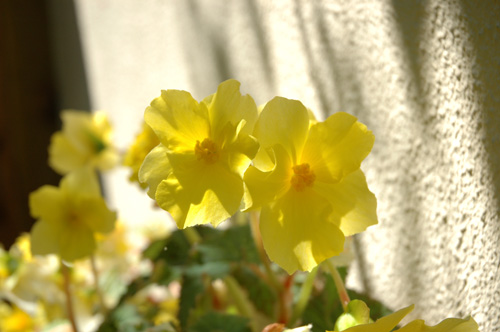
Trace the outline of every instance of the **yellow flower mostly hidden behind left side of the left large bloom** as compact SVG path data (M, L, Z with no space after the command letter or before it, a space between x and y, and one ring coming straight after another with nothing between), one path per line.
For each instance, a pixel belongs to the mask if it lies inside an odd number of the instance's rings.
M130 181L139 182L139 169L142 162L146 158L146 155L158 144L160 144L160 140L154 131L146 123L143 123L142 132L137 135L123 160L123 165L129 166L132 169L132 174L129 178ZM143 189L147 187L145 183L139 182L139 185Z

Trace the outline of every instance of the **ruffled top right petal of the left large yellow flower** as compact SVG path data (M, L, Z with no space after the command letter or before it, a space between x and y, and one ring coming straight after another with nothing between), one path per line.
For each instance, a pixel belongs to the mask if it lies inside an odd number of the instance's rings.
M241 95L240 82L234 79L222 82L213 97L207 98L204 103L208 105L211 137L214 141L219 141L219 135L227 123L237 126L241 120L245 120L241 133L246 135L252 133L258 116L257 105L251 96Z

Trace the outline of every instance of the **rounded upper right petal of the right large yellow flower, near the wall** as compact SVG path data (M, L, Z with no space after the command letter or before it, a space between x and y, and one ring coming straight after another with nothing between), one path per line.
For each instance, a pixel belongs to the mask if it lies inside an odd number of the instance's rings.
M375 137L356 117L335 113L309 131L301 162L314 169L318 179L338 182L359 169Z

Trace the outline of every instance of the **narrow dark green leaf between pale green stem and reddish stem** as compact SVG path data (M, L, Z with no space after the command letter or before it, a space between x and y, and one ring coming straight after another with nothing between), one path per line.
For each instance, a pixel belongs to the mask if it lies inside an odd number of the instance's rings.
M239 266L233 275L248 292L248 298L254 307L268 317L274 317L277 296L271 287L246 266Z

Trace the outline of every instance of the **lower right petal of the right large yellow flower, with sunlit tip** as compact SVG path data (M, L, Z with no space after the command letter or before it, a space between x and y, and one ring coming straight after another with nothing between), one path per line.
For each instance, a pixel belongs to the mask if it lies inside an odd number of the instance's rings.
M316 181L314 189L331 203L333 212L330 220L339 225L345 236L377 224L377 199L368 189L361 170L351 173L339 183Z

